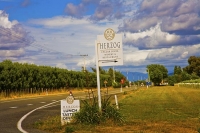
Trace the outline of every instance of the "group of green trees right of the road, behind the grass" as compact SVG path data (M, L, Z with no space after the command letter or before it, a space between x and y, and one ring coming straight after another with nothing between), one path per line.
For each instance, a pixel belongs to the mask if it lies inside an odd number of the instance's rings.
M159 85L163 80L167 81L170 85L174 85L174 83L179 83L185 80L199 79L200 57L190 56L188 58L188 66L184 68L174 66L173 75L168 75L168 70L165 66L160 64L147 65L147 72L150 80L155 85Z

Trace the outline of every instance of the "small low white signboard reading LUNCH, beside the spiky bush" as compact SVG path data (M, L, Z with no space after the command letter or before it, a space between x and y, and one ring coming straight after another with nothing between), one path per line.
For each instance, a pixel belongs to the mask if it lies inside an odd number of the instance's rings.
M73 96L68 96L66 100L61 100L61 124L69 123L73 114L79 110L80 101L74 100Z

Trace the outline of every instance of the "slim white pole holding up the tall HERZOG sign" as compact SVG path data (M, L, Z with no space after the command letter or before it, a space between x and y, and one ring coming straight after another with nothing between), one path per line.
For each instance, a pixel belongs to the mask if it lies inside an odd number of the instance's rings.
M99 110L101 111L101 91L100 91L100 78L99 78L99 57L98 57L98 43L95 41L95 51L96 51L96 74L97 74L97 92L98 92L98 103Z

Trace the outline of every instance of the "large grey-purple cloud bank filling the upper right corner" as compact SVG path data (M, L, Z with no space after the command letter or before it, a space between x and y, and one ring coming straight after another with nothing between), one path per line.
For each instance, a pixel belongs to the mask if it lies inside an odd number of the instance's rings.
M126 18L120 30L132 33L145 31L162 22L163 32L197 35L199 11L199 0L143 0L139 10Z

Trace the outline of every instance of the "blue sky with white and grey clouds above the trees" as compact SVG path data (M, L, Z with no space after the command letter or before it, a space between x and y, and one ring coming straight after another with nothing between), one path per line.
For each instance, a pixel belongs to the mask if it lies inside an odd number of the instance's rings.
M200 56L200 0L0 0L0 60L90 69L107 28L122 34L118 71Z

